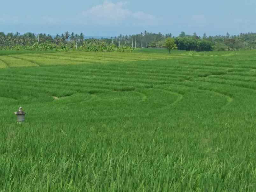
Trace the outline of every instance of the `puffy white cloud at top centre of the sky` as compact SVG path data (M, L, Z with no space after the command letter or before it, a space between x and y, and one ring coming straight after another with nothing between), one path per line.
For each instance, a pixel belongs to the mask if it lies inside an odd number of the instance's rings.
M125 8L127 2L113 3L105 1L83 12L87 22L100 25L113 25L121 23L142 23L144 25L155 25L157 18L145 12L133 12Z

